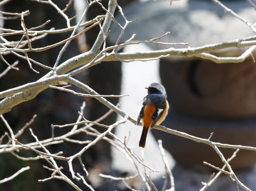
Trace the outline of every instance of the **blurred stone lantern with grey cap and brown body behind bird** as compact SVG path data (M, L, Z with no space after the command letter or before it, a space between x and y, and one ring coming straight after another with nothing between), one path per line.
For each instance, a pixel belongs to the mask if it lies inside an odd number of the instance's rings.
M256 11L248 2L223 1L228 8L254 23ZM252 29L211 1L148 1L124 9L129 20L138 18L122 38L136 33L136 40L148 40L170 32L161 42L188 43L190 47L241 39L255 35ZM121 16L118 21L121 22ZM111 36L119 35L112 26ZM153 50L167 45L151 45ZM186 48L177 45L174 48ZM218 57L238 57L246 49L232 48L210 52ZM169 115L162 123L170 129L220 143L256 147L256 65L253 56L242 63L215 63L197 57L168 57L160 60L160 77L168 101ZM151 83L151 82L150 82ZM204 161L222 167L214 149L203 143L181 138L163 131L152 131L163 140L177 163L205 169ZM226 158L234 149L221 148ZM248 169L256 162L256 152L241 150L231 162L233 169Z

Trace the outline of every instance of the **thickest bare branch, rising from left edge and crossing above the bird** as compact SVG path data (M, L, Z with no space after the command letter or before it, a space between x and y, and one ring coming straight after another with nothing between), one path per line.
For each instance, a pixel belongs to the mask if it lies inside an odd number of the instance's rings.
M57 74L65 74L68 71L72 70L73 68L76 68L78 66L84 65L83 70L90 68L94 66L95 64L100 63L101 61L113 61L113 60L132 60L132 59L150 59L150 58L156 58L162 55L168 55L171 56L180 56L180 57L192 57L196 56L205 52L210 52L214 50L220 50L223 48L230 48L230 47L245 47L245 46L252 46L256 45L256 36L250 36L244 39L237 39L233 41L227 41L224 43L217 43L217 44L210 44L210 45L205 45L197 48L185 48L185 49L175 49L175 48L170 48L170 49L165 49L161 51L147 51L147 52L132 52L132 53L106 53L105 55L102 56L102 58L96 60L94 63L91 63L91 61L95 58L95 56L98 54L98 52L92 52L88 51L85 52L81 55L75 56L66 62L62 63L59 67L57 67ZM117 57L117 58L115 58ZM83 71L80 70L79 72ZM46 79L50 77L53 74L53 72L49 72L47 75L39 79L39 81ZM6 112L9 112L12 107L35 98L35 96L39 93L42 92L44 89L47 87L40 86L37 87L36 89L34 88L33 91L29 90L32 87L28 87L28 91L25 92L20 92L19 94L15 94L15 96L12 96L13 94L9 94L11 97L7 97L6 99L0 101L0 114L4 114ZM18 91L19 92L19 91ZM0 92L0 95L2 95L3 92ZM90 93L90 92L89 92ZM91 93L90 93L91 94ZM7 94L6 94L7 95ZM0 96L1 98L6 97ZM124 116L124 115L123 115Z

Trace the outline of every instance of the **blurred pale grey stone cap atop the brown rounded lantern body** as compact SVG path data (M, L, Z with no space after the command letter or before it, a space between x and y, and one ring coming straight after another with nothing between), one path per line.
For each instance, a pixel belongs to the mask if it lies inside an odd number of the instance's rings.
M254 23L256 12L246 1L221 1L228 8L244 17L248 22ZM243 21L235 18L230 13L225 13L223 8L212 1L147 1L133 3L123 9L128 20L138 19L129 24L122 37L122 42L136 34L135 40L149 40L162 36L161 42L189 43L188 46L196 47L228 40L244 38L255 35L252 29ZM119 15L117 21L124 24ZM113 23L109 39L115 42L120 29ZM184 48L185 45L158 46L149 45L154 50L169 47Z

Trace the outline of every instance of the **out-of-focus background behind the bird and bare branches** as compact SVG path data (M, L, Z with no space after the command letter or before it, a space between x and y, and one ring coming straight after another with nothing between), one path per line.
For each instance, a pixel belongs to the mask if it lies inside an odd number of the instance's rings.
M228 40L240 39L254 35L251 28L244 22L238 20L233 15L225 13L223 8L212 1L204 0L181 0L173 1L117 1L123 7L124 15L128 20L137 19L126 29L122 42L129 39L136 33L138 41L148 40L170 32L163 37L161 42L188 43L190 47L198 47L206 44L220 43ZM238 13L251 23L255 23L256 11L244 0L221 1L228 8ZM55 0L59 7L65 8L68 0ZM101 2L107 7L108 1ZM84 2L75 0L68 12L69 17L81 14L84 10ZM25 17L27 28L37 26L46 20L51 22L46 25L46 29L65 28L66 21L46 4L39 4L30 0L12 0L4 7L5 12L22 12L30 10L30 15ZM91 20L97 15L105 12L97 4L93 5L87 13L86 20ZM78 16L79 18L79 16ZM121 16L116 11L116 19L124 23ZM75 20L72 20L75 25ZM20 20L7 20L4 28L20 29ZM113 23L110 28L108 45L113 45L119 36L120 29ZM99 32L99 28L92 28L86 32L86 36L81 36L78 40L73 40L61 57L60 63L88 51ZM36 41L33 46L42 47L54 44L62 39L68 38L70 33L58 35L48 35L46 38ZM15 39L17 38L17 39ZM19 40L20 36L8 37L8 40ZM124 52L139 52L148 50L161 50L167 48L186 48L185 45L149 45L141 44L127 46ZM29 53L29 57L40 60L47 66L53 66L61 47L55 47L45 52ZM212 52L220 57L240 56L246 49L224 49ZM17 60L12 55L6 55L5 59L9 63ZM0 91L17 87L18 85L33 82L39 79L38 75L29 69L25 60L20 60L18 65L20 71L11 71L1 79ZM0 65L0 73L4 71L6 65ZM41 75L46 74L44 68L34 67ZM252 57L243 63L217 64L209 60L200 58L177 58L169 57L161 60L147 62L104 62L98 64L81 74L76 75L76 79L88 84L96 92L108 94L130 94L129 97L120 99L109 98L108 100L117 104L121 102L121 110L137 118L141 101L147 95L147 87L153 82L164 85L167 92L167 99L171 105L169 115L162 123L167 128L186 132L200 138L208 139L214 132L212 141L256 147L255 124L256 124L256 67ZM21 80L22 79L22 80ZM4 82L4 83L3 83ZM8 83L5 83L8 82ZM81 92L76 87L72 87L76 92ZM17 132L27 123L34 114L37 114L35 122L31 125L34 133L40 135L40 139L51 137L51 124L74 123L78 117L82 102L86 101L85 117L95 120L104 115L108 108L96 99L76 97L67 92L60 92L54 89L47 89L41 92L35 99L23 102L12 108L12 111L4 114L10 126ZM116 114L111 114L102 123L110 125L120 119ZM6 127L0 121L0 134L4 134ZM44 129L44 131L42 131ZM97 127L100 132L104 129ZM56 136L63 134L70 129L56 129ZM170 167L172 168L176 190L200 190L203 186L201 181L207 182L213 170L203 164L204 161L215 166L222 167L223 163L215 151L207 145L196 143L191 140L180 138L158 130L149 132L145 149L138 146L142 127L135 126L127 122L115 129L117 137L124 140L124 136L129 137L127 145L138 155L144 155L145 163L154 169L159 169L159 173L151 173L150 176L160 190L163 186L164 163L160 155L157 140L163 140L166 155ZM152 133L151 133L152 132ZM30 133L20 139L22 143L34 141ZM83 134L78 135L79 140L92 139ZM84 146L64 142L51 147L51 152L56 153L65 148L65 156L70 156L79 152ZM168 152L167 152L168 151ZM221 149L226 158L231 157L234 149ZM33 152L23 152L21 155L34 156ZM96 190L125 190L123 183L102 179L99 173L112 176L126 176L136 173L135 168L115 148L111 148L103 140L91 147L82 155L82 160L91 176L88 182ZM256 189L255 170L256 153L253 151L240 150L236 158L230 163L235 170L238 179L250 189ZM61 180L50 180L40 183L38 179L49 177L48 170L43 169L44 160L24 162L16 159L11 154L2 154L0 157L0 179L9 177L17 169L29 165L32 170L23 172L21 176L12 181L0 185L1 190L72 190L73 188ZM61 163L61 162L60 162ZM10 165L12 164L12 165ZM65 174L70 176L66 162L61 163ZM82 172L78 161L73 162L74 170ZM142 168L142 167L141 167ZM66 170L66 171L65 171ZM143 168L142 168L143 170ZM146 170L149 174L150 172ZM216 172L216 171L215 171ZM81 173L83 174L83 172ZM29 184L27 182L29 177ZM71 178L71 177L70 177ZM83 190L88 188L81 181L76 182ZM129 182L135 189L142 189L143 184L140 179ZM167 186L169 188L170 185ZM227 176L221 176L212 187L207 190L234 190L236 184Z

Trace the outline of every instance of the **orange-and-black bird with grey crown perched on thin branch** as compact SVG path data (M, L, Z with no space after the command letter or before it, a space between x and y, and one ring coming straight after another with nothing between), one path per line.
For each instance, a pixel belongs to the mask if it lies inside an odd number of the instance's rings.
M142 105L137 119L137 125L142 120L143 130L140 137L139 146L144 148L148 130L155 125L159 125L168 114L169 103L165 88L162 84L152 83L148 87L148 95L142 100Z

